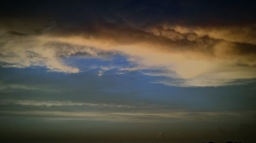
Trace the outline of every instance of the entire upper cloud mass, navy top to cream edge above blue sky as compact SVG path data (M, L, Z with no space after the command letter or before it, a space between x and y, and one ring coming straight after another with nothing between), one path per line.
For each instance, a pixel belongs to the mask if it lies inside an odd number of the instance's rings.
M153 82L166 85L219 86L255 78L256 22L248 4L200 2L203 12L196 11L194 7L199 6L189 2L129 1L105 5L95 12L98 3L89 3L81 9L83 14L65 11L67 17L57 12L57 16L50 16L56 20L48 24L46 21L51 18L38 20L28 16L20 20L15 14L6 16L0 25L1 65L44 66L49 71L77 73L79 68L68 65L63 58L82 55L104 59L118 52L137 63L137 69L161 69L163 72L154 75L166 80ZM126 9L126 5L136 11ZM66 9L66 5L59 8ZM55 12L52 5L49 11ZM40 10L36 14L48 15Z

